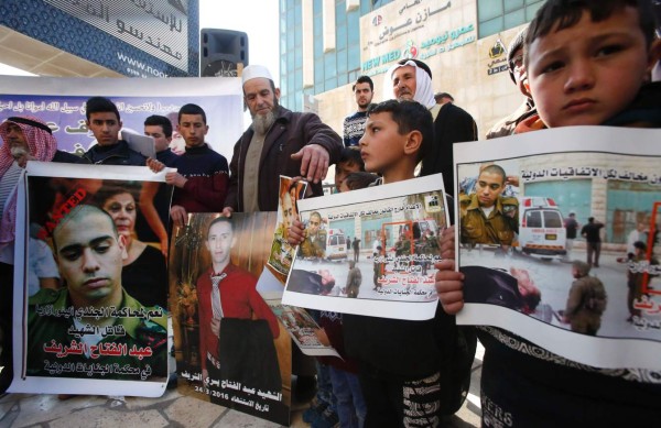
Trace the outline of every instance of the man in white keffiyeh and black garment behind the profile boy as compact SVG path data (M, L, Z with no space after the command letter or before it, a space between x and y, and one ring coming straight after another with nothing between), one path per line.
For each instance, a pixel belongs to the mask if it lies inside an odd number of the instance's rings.
M477 140L477 124L462 108L437 105L432 88L432 70L419 59L401 59L386 74L387 85L392 87L392 98L413 100L425 106L434 118L434 142L422 155L420 176L443 173L445 190L453 194L452 145ZM386 99L391 98L386 96Z

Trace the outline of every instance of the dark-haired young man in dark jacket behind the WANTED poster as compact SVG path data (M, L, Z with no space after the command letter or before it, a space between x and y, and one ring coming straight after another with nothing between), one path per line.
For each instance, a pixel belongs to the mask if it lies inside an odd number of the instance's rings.
M84 155L83 162L102 165L144 166L147 157L119 140L121 119L115 102L105 97L91 97L85 103L87 128L94 133L97 144Z

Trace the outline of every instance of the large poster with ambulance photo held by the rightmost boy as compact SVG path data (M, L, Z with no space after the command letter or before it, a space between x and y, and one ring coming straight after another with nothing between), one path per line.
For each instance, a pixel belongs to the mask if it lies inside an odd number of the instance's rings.
M594 366L658 367L660 136L577 128L456 146L457 322Z

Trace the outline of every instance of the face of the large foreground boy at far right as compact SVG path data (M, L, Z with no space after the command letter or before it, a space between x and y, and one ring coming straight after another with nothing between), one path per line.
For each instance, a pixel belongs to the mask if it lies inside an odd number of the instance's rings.
M528 58L532 97L549 128L603 123L633 100L651 69L630 7L602 22L584 11L574 26L534 40Z

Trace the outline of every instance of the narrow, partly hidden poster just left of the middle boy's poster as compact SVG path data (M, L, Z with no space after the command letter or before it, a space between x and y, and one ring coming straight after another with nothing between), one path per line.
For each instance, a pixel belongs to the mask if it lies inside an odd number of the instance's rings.
M289 228L291 228L293 220L299 216L296 200L303 199L306 188L307 183L305 182L294 182L290 177L280 176L278 226L273 233L269 266L280 274L279 277L281 277L282 283L286 281L295 251L288 241Z

